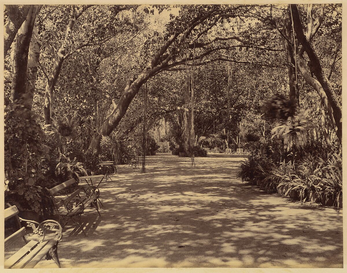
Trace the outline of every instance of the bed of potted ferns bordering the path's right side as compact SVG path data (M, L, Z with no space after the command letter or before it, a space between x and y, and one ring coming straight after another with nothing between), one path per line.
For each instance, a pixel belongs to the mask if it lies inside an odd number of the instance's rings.
M268 192L279 190L285 196L297 193L304 202L310 200L339 207L342 200L341 159L338 148L322 149L321 143L310 143L295 154L273 151L265 155L253 151L240 165L237 177Z

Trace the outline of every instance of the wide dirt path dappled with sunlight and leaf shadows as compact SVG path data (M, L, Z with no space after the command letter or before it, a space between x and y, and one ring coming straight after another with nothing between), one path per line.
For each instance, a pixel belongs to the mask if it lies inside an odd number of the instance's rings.
M101 183L85 238L68 226L63 267L342 267L342 211L269 195L236 179L243 158L167 154L147 173ZM40 267L56 267L51 261Z

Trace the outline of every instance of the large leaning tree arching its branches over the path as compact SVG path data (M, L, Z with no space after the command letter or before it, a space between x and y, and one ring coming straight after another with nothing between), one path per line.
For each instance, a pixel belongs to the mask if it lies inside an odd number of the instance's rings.
M248 48L281 51L282 49L259 46L247 39L242 39L242 34L206 39L206 37L208 38L206 33L214 26L223 24L228 18L242 16L250 9L252 9L252 6L198 5L181 7L179 16L171 17L170 23L167 24L167 32L163 37L160 37L163 40L160 46L150 46L159 43L159 34L158 38L151 38L145 42L145 46L150 52L146 55L145 63L140 66L143 70L139 71L138 76L127 79L124 93L120 97L117 107L111 111L111 114L101 126L100 132L94 134L89 149L99 149L101 135L109 135L118 126L141 86L154 75L175 69L179 65L192 65L193 60L196 60L194 63L196 66L218 60L238 62L238 60L225 57L206 59L212 53L221 50ZM200 38L203 39L202 42L200 42ZM238 42L235 43L234 41ZM198 51L194 56L192 49ZM251 63L252 61L245 62Z

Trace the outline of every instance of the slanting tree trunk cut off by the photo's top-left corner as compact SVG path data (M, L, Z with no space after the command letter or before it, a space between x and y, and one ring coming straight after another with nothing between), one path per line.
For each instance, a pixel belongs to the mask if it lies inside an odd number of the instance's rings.
M4 26L4 58L11 48L11 44L15 39L20 26L26 19L29 9L30 5L5 5L5 17L7 16L7 22Z

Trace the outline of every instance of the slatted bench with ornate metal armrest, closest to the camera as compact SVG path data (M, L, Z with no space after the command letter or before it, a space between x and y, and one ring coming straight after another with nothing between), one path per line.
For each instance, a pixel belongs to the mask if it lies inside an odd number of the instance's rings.
M61 241L62 237L62 227L61 225L54 220L45 220L41 223L26 220L18 216L18 209L16 206L11 206L7 204L8 208L5 209L5 221L12 218L18 224L19 229L9 235L5 239L5 249L12 245L15 241L23 238L25 246L19 249L15 254L8 258L5 263L5 268L34 268L34 266L40 262L40 260L46 255L46 259L50 260L53 258L54 262L60 266L58 258L58 243ZM27 223L28 227L32 227L34 234L38 236L38 240L28 241L25 235L25 227L22 227L20 221ZM54 237L48 240L48 232L54 232Z

